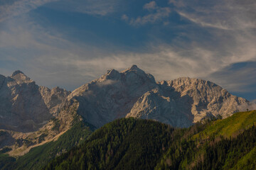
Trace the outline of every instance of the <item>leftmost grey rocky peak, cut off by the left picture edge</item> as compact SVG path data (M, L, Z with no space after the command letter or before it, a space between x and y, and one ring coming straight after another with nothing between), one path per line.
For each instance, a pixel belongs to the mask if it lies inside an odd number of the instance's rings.
M70 94L47 89L16 71L11 77L0 75L0 129L18 132L38 130L53 117L55 106Z

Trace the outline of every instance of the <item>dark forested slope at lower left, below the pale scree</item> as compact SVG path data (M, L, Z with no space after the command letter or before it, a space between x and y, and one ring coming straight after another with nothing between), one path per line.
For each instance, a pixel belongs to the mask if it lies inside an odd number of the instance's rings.
M80 122L61 135L58 140L34 147L28 154L18 159L2 153L0 154L0 169L41 169L51 159L84 142L93 130L95 128L92 125Z

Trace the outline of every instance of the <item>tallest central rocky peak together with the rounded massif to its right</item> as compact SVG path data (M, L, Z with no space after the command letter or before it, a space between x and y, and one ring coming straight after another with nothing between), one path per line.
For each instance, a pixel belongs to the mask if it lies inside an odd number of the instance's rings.
M78 114L97 128L123 117L188 127L208 116L226 118L250 104L210 81L180 78L156 83L135 65L123 72L109 70L73 91L68 100L77 101Z

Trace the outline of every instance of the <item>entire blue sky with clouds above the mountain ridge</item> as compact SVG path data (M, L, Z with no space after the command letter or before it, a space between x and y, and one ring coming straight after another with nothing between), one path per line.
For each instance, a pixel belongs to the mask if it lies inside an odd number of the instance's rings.
M0 74L72 91L137 64L256 99L255 0L0 0Z

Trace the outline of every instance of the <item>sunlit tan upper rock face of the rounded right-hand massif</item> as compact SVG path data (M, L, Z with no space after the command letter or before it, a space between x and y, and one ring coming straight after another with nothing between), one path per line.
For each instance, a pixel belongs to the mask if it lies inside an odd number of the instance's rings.
M161 82L164 84L164 82ZM239 111L239 106L249 105L245 98L233 96L220 86L201 79L179 78L167 81L167 86L174 88L181 97L191 98L191 113L193 123L198 122L206 115L218 115L227 118ZM183 102L184 105L186 104Z

